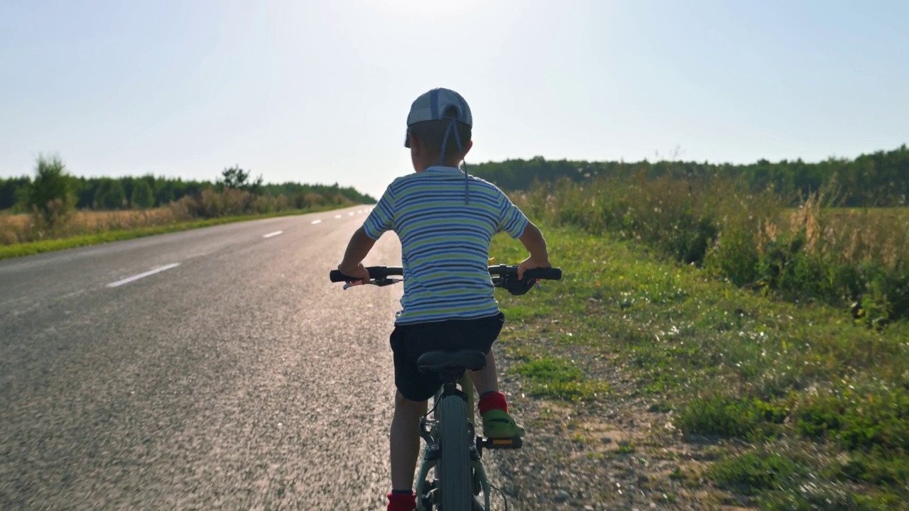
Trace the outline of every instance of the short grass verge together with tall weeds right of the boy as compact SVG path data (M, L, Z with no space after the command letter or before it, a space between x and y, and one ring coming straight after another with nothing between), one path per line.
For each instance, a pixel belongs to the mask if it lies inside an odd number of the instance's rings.
M500 296L508 371L535 409L656 425L615 451L572 423L586 456L567 472L671 458L641 479L654 503L906 508L909 208L835 207L829 182L793 199L645 172L537 179L513 198L565 278ZM496 238L491 255L524 253Z

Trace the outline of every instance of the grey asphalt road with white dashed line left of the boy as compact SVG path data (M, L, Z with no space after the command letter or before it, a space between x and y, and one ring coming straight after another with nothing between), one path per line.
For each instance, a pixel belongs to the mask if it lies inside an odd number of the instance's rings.
M0 261L0 509L384 509L402 289L328 282L367 211Z

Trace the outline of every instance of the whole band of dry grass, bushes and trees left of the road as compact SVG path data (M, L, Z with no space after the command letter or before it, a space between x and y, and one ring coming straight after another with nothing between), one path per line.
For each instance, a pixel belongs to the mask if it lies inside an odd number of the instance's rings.
M0 178L0 259L375 199L338 185L263 184L239 166L214 183L145 175L85 178L56 156L33 176Z

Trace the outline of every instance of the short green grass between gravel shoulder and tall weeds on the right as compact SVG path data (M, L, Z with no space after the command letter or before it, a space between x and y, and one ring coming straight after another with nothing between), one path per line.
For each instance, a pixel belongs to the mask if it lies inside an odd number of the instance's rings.
M721 282L634 241L543 226L561 282L497 296L500 343L539 395L645 397L683 438L744 440L706 472L762 509L899 509L909 501L909 326ZM497 236L499 262L524 258ZM543 313L542 311L545 311ZM607 386L610 371L630 389ZM651 411L654 411L651 410ZM722 444L726 445L726 444ZM725 448L725 447L724 447ZM829 504L824 504L829 503Z

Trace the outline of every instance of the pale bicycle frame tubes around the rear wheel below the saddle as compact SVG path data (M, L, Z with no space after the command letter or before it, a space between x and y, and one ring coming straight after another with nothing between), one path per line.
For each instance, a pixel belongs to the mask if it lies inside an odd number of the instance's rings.
M460 387L460 388L458 388ZM489 483L489 479L486 477L486 471L483 466L482 456L477 450L473 439L475 438L474 430L474 382L470 379L470 376L467 372L464 372L464 375L458 378L455 383L444 384L438 392L435 393L433 398L433 403L437 406L443 399L463 399L464 396L461 396L460 393L466 395L466 406L467 406L467 424L466 426L471 433L472 443L470 446L470 465L474 470L474 477L479 479L480 490L483 494L483 509L490 509L490 496L492 493L492 486ZM430 511L429 508L424 506L423 497L426 494L426 476L429 474L429 470L435 468L438 459L439 459L439 446L438 446L438 436L436 436L436 425L438 421L434 418L429 420L426 416L420 418L420 436L424 439L426 445L423 451L423 463L420 464L420 470L417 472L416 476L416 509L417 511ZM433 489L430 492L431 496L435 496L435 492L438 491L438 476L435 476L433 482L430 484L433 486ZM475 502L475 498L474 498Z

